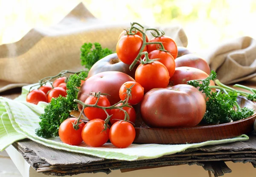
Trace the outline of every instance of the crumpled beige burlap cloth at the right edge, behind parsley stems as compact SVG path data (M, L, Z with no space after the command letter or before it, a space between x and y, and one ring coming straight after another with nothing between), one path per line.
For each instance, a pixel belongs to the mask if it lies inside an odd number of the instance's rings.
M224 84L256 81L256 40L251 37L239 37L200 55Z

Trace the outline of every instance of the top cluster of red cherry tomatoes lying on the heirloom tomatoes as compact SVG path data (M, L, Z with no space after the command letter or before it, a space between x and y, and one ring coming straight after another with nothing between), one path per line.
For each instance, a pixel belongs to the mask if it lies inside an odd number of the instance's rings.
M145 93L153 88L167 87L170 77L175 73L175 59L178 53L175 41L166 36L154 37L151 40L146 36L146 41L143 41L143 34L140 31L134 31L134 35L125 33L126 31L123 31L120 34L116 45L116 54L122 62L131 65L145 42L148 44L145 45L143 52L148 52L149 59L158 59L146 65L141 63L135 71L135 80L144 87ZM158 50L159 44L150 44L153 42L161 42L165 51ZM145 62L143 57L144 55L141 59Z

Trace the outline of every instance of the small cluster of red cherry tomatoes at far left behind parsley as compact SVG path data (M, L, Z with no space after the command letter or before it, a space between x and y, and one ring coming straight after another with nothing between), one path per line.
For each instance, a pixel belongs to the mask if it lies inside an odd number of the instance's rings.
M26 96L26 101L33 104L38 104L39 101L51 102L52 98L67 96L67 86L65 80L67 77L56 79L51 85L43 85L38 89L34 89Z

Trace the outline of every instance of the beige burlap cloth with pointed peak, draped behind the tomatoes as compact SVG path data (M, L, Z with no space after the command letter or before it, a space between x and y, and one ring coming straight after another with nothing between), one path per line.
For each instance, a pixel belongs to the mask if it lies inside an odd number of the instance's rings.
M20 41L0 45L0 92L38 82L61 70L80 70L84 42L99 42L115 51L119 34L129 23L113 24L96 19L82 3L61 22L49 28L34 28ZM177 45L187 46L179 26L161 27Z

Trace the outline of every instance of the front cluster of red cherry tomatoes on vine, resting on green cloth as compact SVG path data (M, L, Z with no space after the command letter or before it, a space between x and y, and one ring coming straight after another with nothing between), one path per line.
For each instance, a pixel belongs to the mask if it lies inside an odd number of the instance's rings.
M131 98L127 97L127 88L130 93L134 93ZM79 145L82 141L89 146L99 147L108 140L118 148L126 148L131 145L135 138L134 123L136 112L131 105L138 104L144 96L143 87L135 82L128 81L122 84L119 89L119 97L123 101L128 101L130 107L120 107L123 103L116 104L116 109L101 109L96 107L85 107L84 115L90 120L86 124L79 122L79 129L74 129L77 124L77 118L69 118L61 123L59 127L59 136L62 142L70 145ZM100 107L111 107L108 98L104 95L92 94L84 102L85 104L96 104ZM128 114L128 120L125 121L125 112ZM111 128L106 125L106 119L110 117Z

